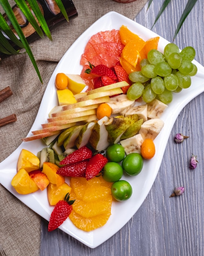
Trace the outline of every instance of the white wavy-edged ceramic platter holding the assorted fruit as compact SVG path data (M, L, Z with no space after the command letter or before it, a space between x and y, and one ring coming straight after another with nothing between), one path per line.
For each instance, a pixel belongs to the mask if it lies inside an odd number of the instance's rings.
M48 113L57 105L55 89L56 74L58 72L80 74L82 67L79 65L79 61L90 37L99 31L119 29L121 25L127 26L132 32L143 38L143 40L158 36L149 29L116 12L111 11L101 17L75 41L61 58L61 61L59 61L47 85L39 112L31 130L41 129L41 124L46 123ZM167 40L160 37L158 50L162 52L167 43L169 43ZM165 125L155 139L156 155L151 160L144 162L143 170L139 175L134 177L123 177L132 185L132 197L125 202L113 202L110 219L99 229L90 232L82 231L75 227L68 218L59 227L61 230L81 241L88 247L95 248L119 231L136 213L154 183L176 118L189 101L204 91L204 67L196 61L193 61L193 63L197 65L198 72L196 76L192 77L191 87L182 90L179 94L174 94L173 101L169 104L169 107L165 110L165 113L162 116ZM29 132L28 136L31 135L31 132ZM0 182L33 211L38 213L44 219L49 220L53 207L49 206L46 189L29 195L20 195L16 193L11 186L11 180L16 173L18 156L22 148L37 154L43 147L45 147L45 144L39 139L36 141L23 142L7 159L0 163Z

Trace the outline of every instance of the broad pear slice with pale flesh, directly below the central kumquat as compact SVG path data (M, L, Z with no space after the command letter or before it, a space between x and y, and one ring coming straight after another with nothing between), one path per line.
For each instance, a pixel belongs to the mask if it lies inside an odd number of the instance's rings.
M105 129L105 123L109 120L108 117L103 117L94 125L92 129L90 139L88 144L95 151L105 150L109 145L109 141L107 140L108 132Z

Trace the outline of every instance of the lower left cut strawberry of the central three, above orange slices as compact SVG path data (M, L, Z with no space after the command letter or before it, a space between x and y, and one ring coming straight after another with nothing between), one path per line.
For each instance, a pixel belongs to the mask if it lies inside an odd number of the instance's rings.
M57 174L67 177L85 177L88 159L81 162L67 164L57 170Z

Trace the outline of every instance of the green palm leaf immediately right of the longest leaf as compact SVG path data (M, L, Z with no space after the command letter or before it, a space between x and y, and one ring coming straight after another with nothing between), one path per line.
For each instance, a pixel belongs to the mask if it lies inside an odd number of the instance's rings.
M33 28L35 29L37 34L41 38L43 38L44 34L43 34L42 30L40 29L40 27L38 26L37 21L35 20L33 14L31 13L31 10L29 9L26 2L22 1L22 0L15 0L15 2L18 5L18 7L21 9L21 11L24 14L24 16L26 17L26 19L31 23L31 25L33 26Z

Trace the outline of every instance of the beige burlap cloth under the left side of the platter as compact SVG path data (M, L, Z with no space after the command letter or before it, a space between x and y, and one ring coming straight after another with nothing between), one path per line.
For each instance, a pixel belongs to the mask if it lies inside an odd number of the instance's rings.
M73 2L78 17L52 31L53 42L45 38L31 43L43 84L26 54L10 56L0 64L0 90L10 86L13 91L11 97L0 103L0 118L13 113L17 116L15 123L0 128L0 162L21 144L20 139L31 129L50 76L70 45L105 13L116 11L134 19L147 0L129 4L112 0ZM0 185L0 255L38 256L40 231L41 218Z

